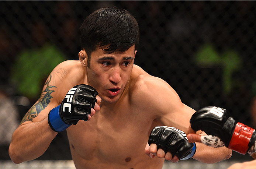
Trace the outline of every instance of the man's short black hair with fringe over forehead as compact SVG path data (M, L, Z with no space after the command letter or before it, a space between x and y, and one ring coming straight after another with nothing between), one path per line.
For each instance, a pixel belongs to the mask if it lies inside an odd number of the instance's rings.
M106 53L125 52L139 44L139 26L132 14L117 7L101 8L91 13L80 27L81 48L88 56L90 66L91 52L104 47Z

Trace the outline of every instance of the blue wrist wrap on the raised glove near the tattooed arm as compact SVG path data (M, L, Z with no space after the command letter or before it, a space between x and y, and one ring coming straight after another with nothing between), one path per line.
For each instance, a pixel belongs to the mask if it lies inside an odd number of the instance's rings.
M49 115L48 115L48 123L49 126L52 128L53 131L55 132L61 132L66 130L69 126L69 124L66 124L65 122L63 122L63 120L60 117L59 114L59 106L57 106L56 108L53 108Z

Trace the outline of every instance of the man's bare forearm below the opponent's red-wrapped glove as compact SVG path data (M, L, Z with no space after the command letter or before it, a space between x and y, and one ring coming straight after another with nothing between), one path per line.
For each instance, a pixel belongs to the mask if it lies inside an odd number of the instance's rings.
M216 163L229 159L232 155L232 150L226 147L213 148L198 142L196 145L197 151L192 158L204 163Z

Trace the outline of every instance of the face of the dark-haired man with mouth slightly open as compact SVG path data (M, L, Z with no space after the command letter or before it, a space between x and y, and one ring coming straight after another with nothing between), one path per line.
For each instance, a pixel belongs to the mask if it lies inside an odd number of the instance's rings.
M125 52L106 54L102 48L91 53L87 67L88 84L94 87L104 102L118 101L131 76L135 47Z

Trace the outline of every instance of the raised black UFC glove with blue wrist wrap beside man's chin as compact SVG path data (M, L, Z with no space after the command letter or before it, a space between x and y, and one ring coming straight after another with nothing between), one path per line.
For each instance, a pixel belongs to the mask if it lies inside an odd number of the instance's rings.
M97 104L96 89L89 85L76 85L66 94L62 103L48 114L49 126L55 132L66 130L79 120L87 121L91 110ZM99 109L99 107L98 107Z

